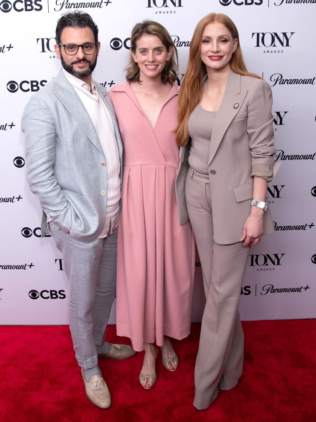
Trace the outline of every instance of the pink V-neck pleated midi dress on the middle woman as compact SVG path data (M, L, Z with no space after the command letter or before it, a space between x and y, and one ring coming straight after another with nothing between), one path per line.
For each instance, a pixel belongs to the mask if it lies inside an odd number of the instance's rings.
M179 225L177 85L154 129L128 82L110 90L123 142L123 192L118 225L116 329L137 351L190 333L195 241Z

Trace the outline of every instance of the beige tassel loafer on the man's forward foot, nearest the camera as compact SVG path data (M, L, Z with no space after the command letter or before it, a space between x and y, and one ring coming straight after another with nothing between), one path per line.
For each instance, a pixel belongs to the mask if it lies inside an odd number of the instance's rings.
M91 376L89 382L87 382L83 368L81 368L81 376L88 400L101 409L109 408L111 406L111 395L102 375L97 373L96 375Z

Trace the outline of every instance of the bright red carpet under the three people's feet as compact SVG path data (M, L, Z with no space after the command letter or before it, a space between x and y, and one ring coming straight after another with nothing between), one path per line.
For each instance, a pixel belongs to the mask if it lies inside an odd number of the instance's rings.
M0 420L5 422L315 422L316 319L243 322L244 374L212 406L193 405L194 362L200 324L174 349L179 369L169 373L157 357L157 382L140 387L143 353L123 361L99 360L112 395L110 409L84 393L67 326L0 326ZM107 330L114 343L129 343ZM129 343L130 344L130 343Z

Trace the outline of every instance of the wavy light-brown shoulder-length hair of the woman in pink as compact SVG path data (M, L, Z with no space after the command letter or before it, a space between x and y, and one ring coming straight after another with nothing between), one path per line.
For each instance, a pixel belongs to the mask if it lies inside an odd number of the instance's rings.
M161 73L161 81L164 84L169 82L172 84L177 78L178 71L178 52L177 48L174 45L169 32L166 28L158 22L145 20L134 25L134 28L131 32L131 51L136 53L136 43L142 35L155 35L157 36L163 45L166 47L167 52L172 46L173 51L170 59L166 62L165 67ZM126 70L126 80L128 82L141 82L139 80L139 66L133 59L133 56L130 53L129 64L125 68Z

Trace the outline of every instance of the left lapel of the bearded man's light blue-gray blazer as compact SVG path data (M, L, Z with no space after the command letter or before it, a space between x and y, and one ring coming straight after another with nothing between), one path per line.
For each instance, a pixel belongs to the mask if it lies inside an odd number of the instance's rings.
M66 76L62 73L62 70L59 71L57 76L54 78L54 81L55 92L59 100L62 101L64 106L94 146L101 152L101 154L104 155L94 124L92 123L86 108L83 106L83 103L75 92L75 89L73 89Z

